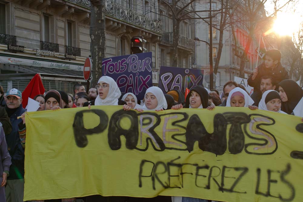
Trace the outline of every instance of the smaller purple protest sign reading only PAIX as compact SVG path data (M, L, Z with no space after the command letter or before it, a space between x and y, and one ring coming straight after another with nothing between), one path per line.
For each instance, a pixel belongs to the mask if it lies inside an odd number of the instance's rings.
M159 74L159 88L164 93L173 89L185 92L185 89L191 89L203 83L203 70L185 69L178 67L161 66Z

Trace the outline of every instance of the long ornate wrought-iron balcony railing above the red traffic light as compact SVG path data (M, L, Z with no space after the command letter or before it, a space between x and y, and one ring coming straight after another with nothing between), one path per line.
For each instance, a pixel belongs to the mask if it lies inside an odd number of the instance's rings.
M162 22L159 20L151 19L146 15L142 15L130 8L126 8L121 4L112 2L110 0L105 1L105 12L114 18L128 22L132 25L137 25L151 31L162 33Z

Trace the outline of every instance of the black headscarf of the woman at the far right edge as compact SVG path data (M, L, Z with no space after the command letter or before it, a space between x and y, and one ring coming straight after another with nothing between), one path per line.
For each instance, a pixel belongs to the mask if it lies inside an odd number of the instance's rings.
M278 86L283 88L288 99L286 102L282 102L281 110L287 114L291 114L303 97L303 90L294 80L291 79L281 81Z

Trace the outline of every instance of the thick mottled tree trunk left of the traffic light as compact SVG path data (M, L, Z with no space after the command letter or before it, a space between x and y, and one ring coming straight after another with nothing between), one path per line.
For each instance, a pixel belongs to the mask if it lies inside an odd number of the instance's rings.
M102 58L105 58L105 0L91 0L92 86L102 76Z

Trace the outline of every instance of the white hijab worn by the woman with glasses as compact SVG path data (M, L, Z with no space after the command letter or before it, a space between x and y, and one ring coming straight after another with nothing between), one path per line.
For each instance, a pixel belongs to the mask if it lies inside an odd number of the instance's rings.
M98 84L102 83L109 84L108 94L105 99L101 99L98 95L95 99L95 105L118 105L118 98L121 96L121 91L115 80L109 76L102 76L99 79Z

